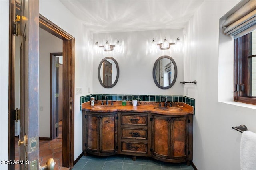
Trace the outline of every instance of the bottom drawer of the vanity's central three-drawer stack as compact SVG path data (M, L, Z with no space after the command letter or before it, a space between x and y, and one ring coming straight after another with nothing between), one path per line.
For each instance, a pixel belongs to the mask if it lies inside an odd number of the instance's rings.
M147 143L122 142L122 152L147 153Z

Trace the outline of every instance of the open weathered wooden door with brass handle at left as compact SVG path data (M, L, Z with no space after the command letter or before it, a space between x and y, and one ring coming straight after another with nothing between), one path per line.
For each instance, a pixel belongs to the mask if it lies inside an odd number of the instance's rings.
M20 4L20 169L39 168L39 2ZM29 29L29 30L28 30Z

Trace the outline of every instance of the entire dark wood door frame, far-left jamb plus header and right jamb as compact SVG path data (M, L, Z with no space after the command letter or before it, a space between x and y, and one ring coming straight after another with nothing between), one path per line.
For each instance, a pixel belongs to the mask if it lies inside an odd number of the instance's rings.
M15 160L15 40L13 35L15 1L10 1L10 31L9 31L9 137L8 155L9 160ZM13 8L14 7L14 8ZM73 167L74 165L74 37L50 22L44 16L39 15L40 28L48 31L63 40L63 139L62 139L62 166ZM36 37L34 37L36 38ZM38 50L38 49L35 49ZM33 62L33 61L31 61ZM22 64L22 63L21 63ZM31 120L31 119L30 119ZM31 121L38 121L34 119ZM9 165L14 169L14 165Z

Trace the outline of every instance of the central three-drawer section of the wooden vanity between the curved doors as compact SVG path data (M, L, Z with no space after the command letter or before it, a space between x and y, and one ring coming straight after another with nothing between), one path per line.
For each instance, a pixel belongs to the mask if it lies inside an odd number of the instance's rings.
M150 156L150 113L118 113L118 154ZM133 158L134 160L136 157Z

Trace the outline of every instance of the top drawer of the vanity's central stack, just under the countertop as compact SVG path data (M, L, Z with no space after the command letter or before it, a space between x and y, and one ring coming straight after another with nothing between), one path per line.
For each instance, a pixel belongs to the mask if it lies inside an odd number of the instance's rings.
M147 125L147 115L121 115L122 125Z

